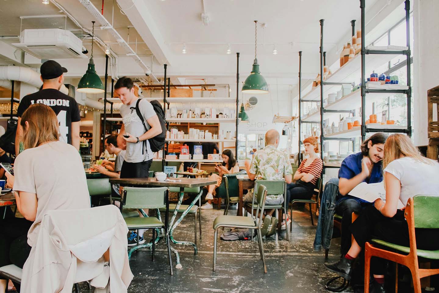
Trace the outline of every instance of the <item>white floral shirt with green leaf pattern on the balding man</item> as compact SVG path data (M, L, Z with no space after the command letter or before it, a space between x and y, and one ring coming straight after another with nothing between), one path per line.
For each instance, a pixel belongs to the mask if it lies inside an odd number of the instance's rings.
M255 174L256 180L283 180L285 175L293 174L293 168L286 153L267 145L255 152L250 173Z

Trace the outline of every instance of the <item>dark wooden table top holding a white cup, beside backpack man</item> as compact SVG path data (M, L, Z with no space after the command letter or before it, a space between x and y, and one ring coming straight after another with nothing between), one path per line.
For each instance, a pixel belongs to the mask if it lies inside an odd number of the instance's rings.
M171 178L174 179L174 178ZM179 182L172 181L157 181L154 177L149 178L118 178L110 179L111 183L120 185L149 185L149 186L165 186L165 187L200 187L211 184L216 184L216 180L209 178L175 178L181 180Z

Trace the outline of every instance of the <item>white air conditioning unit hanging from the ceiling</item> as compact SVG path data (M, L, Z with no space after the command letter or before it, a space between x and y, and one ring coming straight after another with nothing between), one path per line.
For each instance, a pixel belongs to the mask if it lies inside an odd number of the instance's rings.
M12 45L40 59L87 58L82 40L64 29L24 29Z

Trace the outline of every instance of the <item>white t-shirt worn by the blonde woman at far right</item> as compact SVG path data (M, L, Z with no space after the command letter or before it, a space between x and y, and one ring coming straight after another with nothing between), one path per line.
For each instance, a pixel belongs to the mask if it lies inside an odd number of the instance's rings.
M384 169L401 181L399 199L404 206L410 197L418 194L439 196L439 163L431 161L432 165L403 157L390 162Z

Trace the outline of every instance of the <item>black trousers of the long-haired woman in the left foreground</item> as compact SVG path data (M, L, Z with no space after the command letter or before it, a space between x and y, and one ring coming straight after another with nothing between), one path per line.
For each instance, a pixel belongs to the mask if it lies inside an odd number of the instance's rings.
M15 264L23 268L31 250L27 232L32 223L24 218L0 220L0 267Z

